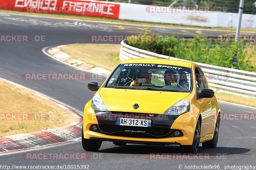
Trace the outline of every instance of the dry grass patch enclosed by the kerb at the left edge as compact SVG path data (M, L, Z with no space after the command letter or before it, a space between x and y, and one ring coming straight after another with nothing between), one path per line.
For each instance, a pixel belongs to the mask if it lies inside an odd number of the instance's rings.
M41 131L69 124L74 117L65 109L34 93L0 81L0 137ZM41 115L39 120L4 120L6 114ZM36 118L37 119L37 118Z

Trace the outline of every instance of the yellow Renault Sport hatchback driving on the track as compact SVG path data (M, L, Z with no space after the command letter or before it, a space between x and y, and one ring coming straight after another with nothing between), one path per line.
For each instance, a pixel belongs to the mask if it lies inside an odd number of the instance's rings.
M201 68L193 62L130 59L121 62L84 107L82 145L97 151L115 145L180 145L215 148L220 107Z

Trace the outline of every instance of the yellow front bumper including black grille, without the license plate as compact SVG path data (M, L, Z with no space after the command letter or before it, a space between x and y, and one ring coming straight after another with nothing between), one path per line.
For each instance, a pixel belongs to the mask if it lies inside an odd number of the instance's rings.
M117 115L116 115L117 114ZM119 115L118 115L119 114ZM102 116L107 116L103 118ZM157 114L154 114L157 115ZM110 119L109 116L111 116ZM192 145L196 117L191 113L187 112L179 117L169 116L168 120L152 120L152 127L155 130L161 129L164 133L160 134L161 131L146 131L149 128L139 128L135 126L117 126L115 125L116 116L120 116L120 113L116 112L101 112L97 113L97 116L90 107L89 104L85 105L84 108L84 138L86 139L97 139L102 141L119 141L132 144L157 144L157 145ZM145 114L147 116L147 114ZM161 116L161 115L160 115ZM162 115L164 116L164 115ZM132 117L130 117L132 118ZM139 117L138 117L139 118ZM143 117L141 117L143 118ZM148 117L147 117L148 118ZM165 117L166 119L166 117ZM92 131L90 127L96 124L100 127L100 131ZM108 128L111 127L112 128ZM118 132L113 129L118 128ZM134 131L140 130L144 132L124 132L125 129L135 129ZM141 130L143 129L143 130ZM146 130L145 130L146 129ZM171 132L172 129L179 130L183 136L173 137Z

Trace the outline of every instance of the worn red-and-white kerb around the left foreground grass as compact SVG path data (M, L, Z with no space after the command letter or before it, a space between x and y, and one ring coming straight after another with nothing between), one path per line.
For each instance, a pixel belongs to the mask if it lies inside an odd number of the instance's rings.
M68 109L67 107L52 100L51 98L40 94L35 90L28 89L20 84L8 81L1 77L0 80L8 82L22 89L26 89L37 96L47 99L52 103L59 105L61 108L66 109L74 117L74 122L61 127L56 127L54 129L0 137L0 153L59 144L81 138L83 120L76 114L76 112Z

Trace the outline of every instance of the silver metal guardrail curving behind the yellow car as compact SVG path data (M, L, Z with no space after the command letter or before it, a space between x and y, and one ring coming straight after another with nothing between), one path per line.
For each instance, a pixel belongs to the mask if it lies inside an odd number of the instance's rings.
M169 56L135 48L127 45L125 41L122 41L119 58L123 61L135 58L168 59ZM170 57L170 59L182 60L174 57ZM256 73L203 63L196 64L204 71L211 87L219 89L220 91L256 97ZM214 78L217 79L214 80Z

